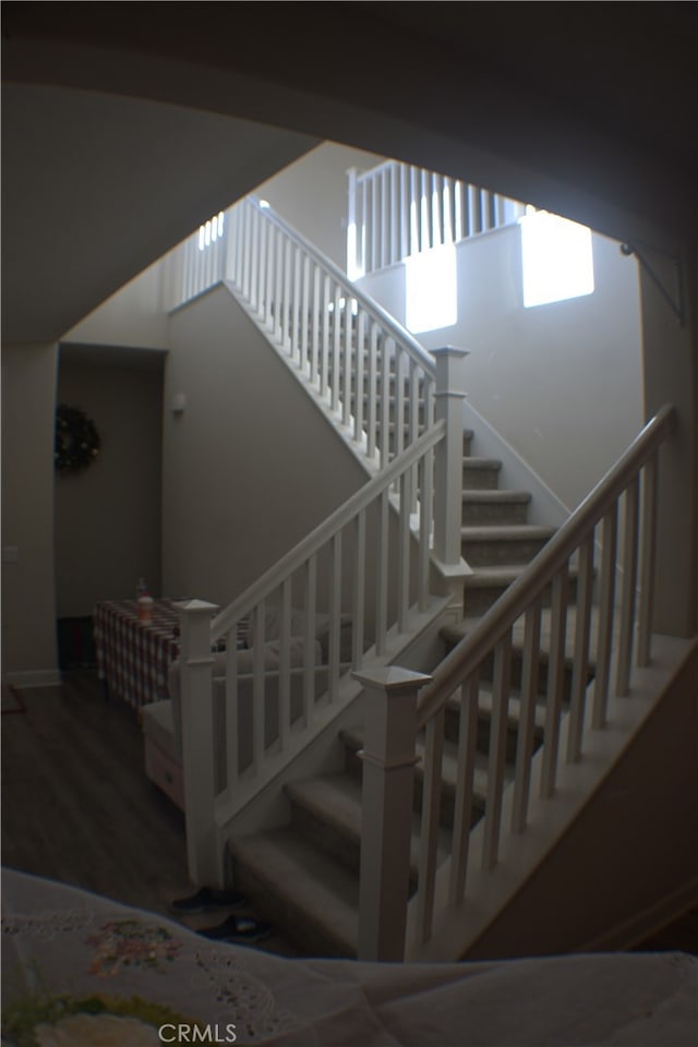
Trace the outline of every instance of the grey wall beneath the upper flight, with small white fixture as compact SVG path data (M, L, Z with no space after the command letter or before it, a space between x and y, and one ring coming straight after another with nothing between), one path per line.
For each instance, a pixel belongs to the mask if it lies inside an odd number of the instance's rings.
M163 589L225 605L366 477L225 288L172 315L169 346Z

